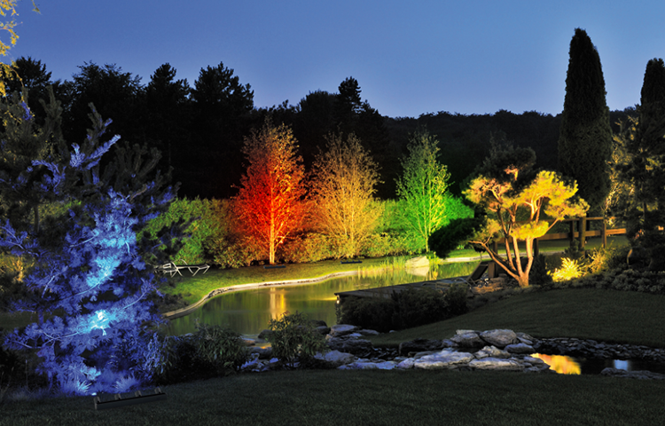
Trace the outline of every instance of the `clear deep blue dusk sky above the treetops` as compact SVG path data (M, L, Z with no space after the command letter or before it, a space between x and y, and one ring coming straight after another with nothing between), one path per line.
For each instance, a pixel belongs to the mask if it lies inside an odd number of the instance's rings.
M10 59L55 79L84 61L150 75L166 62L193 86L201 67L235 70L255 106L337 91L348 76L380 114L563 108L568 47L586 29L611 109L639 101L646 62L665 56L665 2L615 0L29 0ZM5 58L5 60L7 60Z

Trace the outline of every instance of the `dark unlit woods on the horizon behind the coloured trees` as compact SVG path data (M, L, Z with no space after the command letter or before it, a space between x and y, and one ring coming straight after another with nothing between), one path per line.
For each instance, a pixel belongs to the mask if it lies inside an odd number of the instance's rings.
M86 136L87 114L92 103L103 117L113 120L108 131L132 144L156 147L159 168L171 171L180 182L179 196L190 199L227 199L239 191L246 170L243 140L261 129L265 119L293 130L305 170L312 170L331 134L351 133L379 165L376 195L395 199L395 179L403 170L401 160L409 154L410 138L426 130L440 141L440 161L450 173L449 190L459 194L477 164L489 153L490 140L508 140L530 146L537 168L558 170L560 114L535 111L522 114L500 110L495 114L439 112L419 117L383 116L362 99L362 87L353 77L340 82L337 92L310 91L297 104L254 106L254 91L233 69L220 62L202 67L193 85L177 78L168 63L157 68L147 83L114 64L84 63L71 80L53 81L46 64L32 58L16 61L19 81L7 83L8 91L27 93L36 117L43 117L40 99L48 102L48 86L63 109L64 138L80 143ZM614 123L631 110L610 112Z

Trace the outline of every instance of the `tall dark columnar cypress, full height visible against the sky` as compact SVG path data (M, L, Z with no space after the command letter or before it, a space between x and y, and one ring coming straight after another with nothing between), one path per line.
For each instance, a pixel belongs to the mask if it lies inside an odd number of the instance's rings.
M575 178L580 196L596 212L610 188L612 129L605 95L599 53L586 31L575 28L559 130L559 170Z

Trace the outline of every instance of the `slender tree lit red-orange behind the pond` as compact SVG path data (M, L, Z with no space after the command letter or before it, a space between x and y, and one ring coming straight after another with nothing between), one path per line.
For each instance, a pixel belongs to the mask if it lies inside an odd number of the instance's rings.
M248 165L233 208L242 230L268 251L270 264L305 216L305 168L297 148L288 127L266 121L245 138L242 150Z

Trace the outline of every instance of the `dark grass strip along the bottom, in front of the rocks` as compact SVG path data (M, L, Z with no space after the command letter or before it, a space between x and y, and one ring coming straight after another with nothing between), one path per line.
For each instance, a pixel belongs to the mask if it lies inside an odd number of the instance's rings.
M95 411L92 398L0 406L0 425L661 425L665 386L603 376L470 371L293 371L164 389Z

